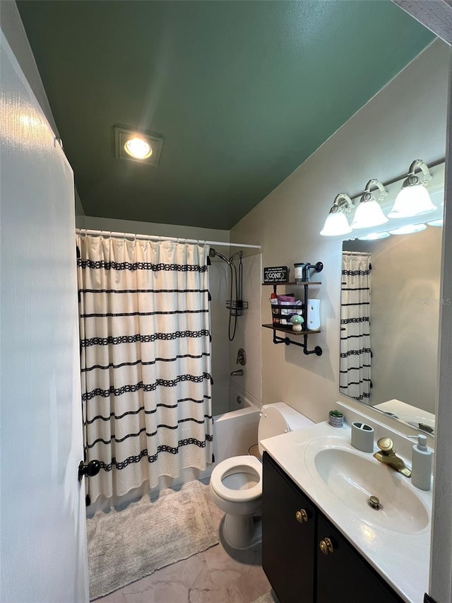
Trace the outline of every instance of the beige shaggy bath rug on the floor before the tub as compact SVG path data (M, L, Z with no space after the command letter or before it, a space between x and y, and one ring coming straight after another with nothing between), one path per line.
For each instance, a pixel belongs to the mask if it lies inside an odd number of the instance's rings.
M218 544L198 481L98 511L87 529L90 601Z

